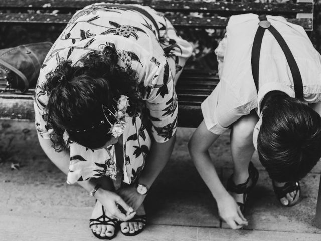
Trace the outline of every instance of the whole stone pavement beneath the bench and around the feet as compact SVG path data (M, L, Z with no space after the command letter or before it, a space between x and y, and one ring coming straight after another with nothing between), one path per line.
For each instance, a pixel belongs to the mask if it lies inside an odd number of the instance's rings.
M0 240L71 241L97 240L88 223L94 199L66 177L42 152L30 122L0 122ZM283 208L275 198L271 181L254 155L260 178L245 213L249 226L231 230L217 214L216 203L197 174L187 142L194 129L181 128L172 158L146 198L148 226L138 236L122 240L321 240L321 229L312 226L319 163L302 180L301 202ZM211 148L221 179L231 174L229 135ZM19 162L19 170L11 170Z

